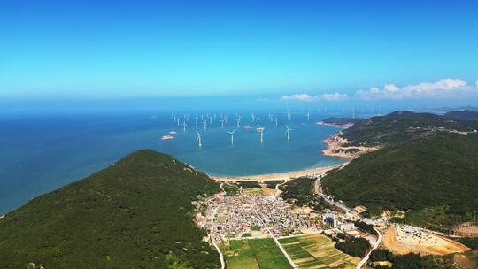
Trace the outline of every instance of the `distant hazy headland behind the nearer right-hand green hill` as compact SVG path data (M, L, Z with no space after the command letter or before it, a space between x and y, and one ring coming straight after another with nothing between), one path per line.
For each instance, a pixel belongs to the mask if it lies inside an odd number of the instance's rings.
M354 146L388 145L433 135L437 132L473 132L478 128L476 121L447 119L430 113L395 111L385 116L372 117L356 122L343 130L342 137Z

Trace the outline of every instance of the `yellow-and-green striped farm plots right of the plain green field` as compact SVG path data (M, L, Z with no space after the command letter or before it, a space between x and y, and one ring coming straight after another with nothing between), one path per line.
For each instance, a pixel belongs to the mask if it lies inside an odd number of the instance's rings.
M335 249L335 242L321 234L279 239L299 268L355 268L360 260Z

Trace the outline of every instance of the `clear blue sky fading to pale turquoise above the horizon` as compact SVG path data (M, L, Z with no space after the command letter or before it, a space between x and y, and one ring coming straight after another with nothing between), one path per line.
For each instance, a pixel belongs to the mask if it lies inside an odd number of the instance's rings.
M2 1L0 98L474 95L477 1L327 2Z

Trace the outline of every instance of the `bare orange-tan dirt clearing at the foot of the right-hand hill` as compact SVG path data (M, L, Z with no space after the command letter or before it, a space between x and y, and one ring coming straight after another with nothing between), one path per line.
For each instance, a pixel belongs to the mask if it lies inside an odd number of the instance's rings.
M469 250L459 242L423 230L417 231L414 228L390 226L385 233L383 245L395 254L413 252L420 255L446 255Z

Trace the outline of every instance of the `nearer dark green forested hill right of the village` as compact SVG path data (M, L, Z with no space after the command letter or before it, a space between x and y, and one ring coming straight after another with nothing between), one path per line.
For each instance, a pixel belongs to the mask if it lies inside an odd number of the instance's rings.
M453 225L478 210L478 135L445 132L364 154L323 180L347 204L407 211L405 221Z

